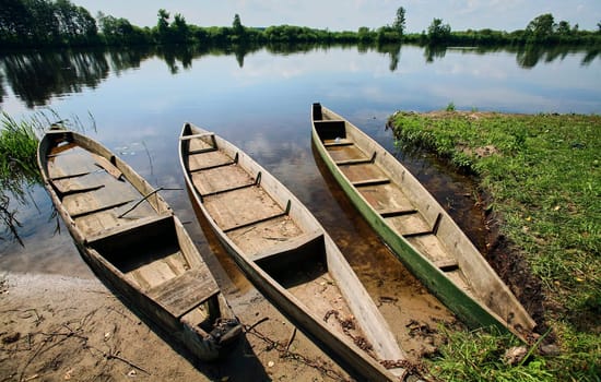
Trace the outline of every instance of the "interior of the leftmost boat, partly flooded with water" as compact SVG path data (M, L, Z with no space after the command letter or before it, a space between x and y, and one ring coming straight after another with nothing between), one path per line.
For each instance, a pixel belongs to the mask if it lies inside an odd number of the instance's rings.
M210 330L220 314L219 287L204 262L189 253L193 244L182 244L189 238L170 211L153 206L156 194L142 194L114 157L93 154L69 135L55 142L46 160L48 181L85 246L170 314L192 315L188 321Z

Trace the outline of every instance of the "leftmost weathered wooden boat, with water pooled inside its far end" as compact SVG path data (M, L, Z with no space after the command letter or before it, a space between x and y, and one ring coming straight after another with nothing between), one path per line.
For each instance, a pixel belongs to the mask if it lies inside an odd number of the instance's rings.
M48 131L37 159L52 202L94 273L199 359L227 353L241 325L158 190L76 132Z

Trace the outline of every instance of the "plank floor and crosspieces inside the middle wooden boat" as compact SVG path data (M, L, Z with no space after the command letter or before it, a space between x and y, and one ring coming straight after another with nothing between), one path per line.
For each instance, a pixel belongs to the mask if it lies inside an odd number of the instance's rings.
M212 133L195 134L189 129L181 141L185 166L197 194L241 255L315 315L329 318L328 312L335 311L339 320L327 320L330 330L362 337L360 327L342 327L343 318L352 313L328 270L323 231L300 226L290 215L290 202L278 203L261 186L261 174L250 175L239 165L238 154L219 150Z

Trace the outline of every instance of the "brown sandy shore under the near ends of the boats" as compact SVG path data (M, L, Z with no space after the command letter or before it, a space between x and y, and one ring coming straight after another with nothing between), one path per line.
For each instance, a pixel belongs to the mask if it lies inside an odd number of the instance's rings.
M228 298L246 324L264 321L226 359L203 363L96 278L3 274L0 381L349 380L255 289Z

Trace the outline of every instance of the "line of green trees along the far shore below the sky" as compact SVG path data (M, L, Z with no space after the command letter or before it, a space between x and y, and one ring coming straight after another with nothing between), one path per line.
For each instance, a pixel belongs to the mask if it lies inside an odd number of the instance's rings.
M405 33L406 12L400 7L391 25L360 27L356 32L331 32L304 26L247 27L234 15L232 26L197 26L184 15L161 9L153 27L139 27L127 19L98 12L93 17L69 0L0 0L0 44L4 48L44 46L131 46L170 44L400 44L421 45L521 45L601 44L598 31L580 31L552 14L532 20L525 29L510 33L493 29L453 32L441 19L433 19L427 31Z

